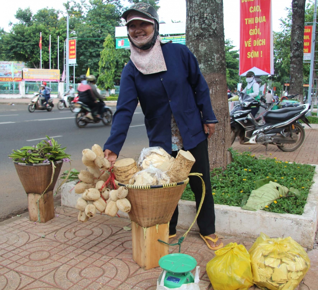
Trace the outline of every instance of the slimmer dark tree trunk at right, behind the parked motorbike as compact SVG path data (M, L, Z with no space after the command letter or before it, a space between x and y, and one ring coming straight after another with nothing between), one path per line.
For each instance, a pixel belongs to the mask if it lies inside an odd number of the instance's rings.
M292 1L292 32L290 41L290 87L289 95L298 95L303 103L303 47L306 0Z

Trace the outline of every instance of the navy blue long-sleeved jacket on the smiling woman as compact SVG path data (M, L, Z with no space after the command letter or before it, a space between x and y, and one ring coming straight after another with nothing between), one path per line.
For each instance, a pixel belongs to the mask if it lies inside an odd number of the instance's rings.
M203 124L218 123L195 56L182 44L166 43L161 48L167 71L142 74L131 60L124 67L117 110L104 150L119 155L138 101L145 116L149 146L161 146L170 154L171 112L185 150L207 138Z

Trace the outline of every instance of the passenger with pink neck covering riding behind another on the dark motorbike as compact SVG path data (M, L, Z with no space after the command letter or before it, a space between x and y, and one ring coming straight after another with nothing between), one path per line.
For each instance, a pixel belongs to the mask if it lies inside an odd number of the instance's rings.
M97 99L93 93L91 86L88 84L86 80L86 75L85 74L80 75L79 79L80 79L80 84L77 87L77 90L79 93L79 102L86 104L91 109L92 116L91 114L87 114L86 116L93 120L94 116L97 115L97 110L98 110Z

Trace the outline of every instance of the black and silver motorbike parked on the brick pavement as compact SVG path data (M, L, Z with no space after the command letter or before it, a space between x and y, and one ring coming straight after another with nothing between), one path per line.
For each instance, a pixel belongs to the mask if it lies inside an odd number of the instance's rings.
M268 144L276 145L286 152L299 148L305 139L305 130L299 120L310 127L305 117L310 111L310 105L266 111L257 122L250 112L252 107L259 106L266 108L253 97L240 93L239 105L230 112L232 144L239 137L240 144L263 144L266 151Z

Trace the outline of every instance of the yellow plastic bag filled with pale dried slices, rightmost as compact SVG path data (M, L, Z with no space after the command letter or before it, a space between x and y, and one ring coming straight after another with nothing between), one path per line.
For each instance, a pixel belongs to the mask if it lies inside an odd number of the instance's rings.
M294 290L310 267L307 253L291 237L260 233L249 253L253 281L263 290Z

